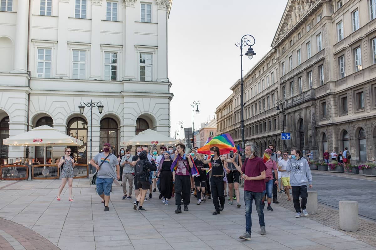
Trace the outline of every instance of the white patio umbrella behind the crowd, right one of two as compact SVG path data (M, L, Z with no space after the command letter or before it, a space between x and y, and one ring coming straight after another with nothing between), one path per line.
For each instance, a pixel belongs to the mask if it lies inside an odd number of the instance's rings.
M178 142L179 140L177 139L162 135L155 130L147 129L127 141L121 141L120 145L171 145Z

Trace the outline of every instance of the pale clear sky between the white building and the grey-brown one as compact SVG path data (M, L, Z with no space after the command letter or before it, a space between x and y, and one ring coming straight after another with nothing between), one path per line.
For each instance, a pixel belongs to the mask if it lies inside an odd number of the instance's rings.
M287 0L173 0L168 19L168 78L172 83L171 137L179 121L194 128L210 121L240 79L240 48L245 34L255 37L256 55L243 56L243 75L270 49ZM243 47L243 55L248 47ZM196 110L196 109L195 109ZM180 130L180 139L184 130Z

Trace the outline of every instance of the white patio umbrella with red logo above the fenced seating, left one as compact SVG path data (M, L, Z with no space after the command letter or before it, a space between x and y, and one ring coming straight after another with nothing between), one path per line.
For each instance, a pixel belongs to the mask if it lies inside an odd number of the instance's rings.
M25 133L3 140L9 146L44 146L44 163L46 163L45 149L47 145L81 146L83 142L69 135L65 135L53 127L43 125Z

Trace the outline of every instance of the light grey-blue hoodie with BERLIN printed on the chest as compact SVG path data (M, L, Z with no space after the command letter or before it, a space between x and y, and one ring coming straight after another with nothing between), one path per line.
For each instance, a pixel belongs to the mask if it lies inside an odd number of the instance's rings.
M288 159L288 165L286 166L286 171L291 171L290 173L290 184L293 187L306 185L307 182L312 184L312 174L309 168L308 162L303 157L299 160Z

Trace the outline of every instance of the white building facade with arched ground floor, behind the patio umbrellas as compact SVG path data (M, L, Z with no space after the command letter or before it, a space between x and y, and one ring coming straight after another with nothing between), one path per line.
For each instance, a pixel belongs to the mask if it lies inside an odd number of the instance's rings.
M2 139L44 124L84 142L72 148L79 163L106 142L118 154L120 141L145 129L169 136L171 1L2 0L0 164L27 156ZM104 106L92 109L92 123L90 108L78 108L91 100ZM56 158L64 147L47 151ZM43 157L39 147L29 152Z

